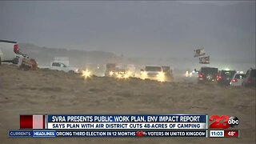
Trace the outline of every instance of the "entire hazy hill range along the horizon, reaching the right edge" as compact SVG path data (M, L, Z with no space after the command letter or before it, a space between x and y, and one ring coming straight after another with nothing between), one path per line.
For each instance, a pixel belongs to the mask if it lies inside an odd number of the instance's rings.
M57 48L48 48L44 46L35 46L30 43L19 43L20 51L23 54L28 54L30 58L35 58L39 65L49 65L54 60L54 57L70 58L70 66L84 67L86 64L105 65L108 62L114 63L131 63L138 66L138 69L145 65L160 65L171 66L176 70L194 70L201 66L215 66L220 70L230 68L230 70L248 70L250 67L255 67L254 60L238 60L238 59L220 59L210 57L210 65L202 65L198 63L198 58L127 58L126 56L118 56L106 51L86 51L86 50L66 50ZM106 65L105 65L106 66Z

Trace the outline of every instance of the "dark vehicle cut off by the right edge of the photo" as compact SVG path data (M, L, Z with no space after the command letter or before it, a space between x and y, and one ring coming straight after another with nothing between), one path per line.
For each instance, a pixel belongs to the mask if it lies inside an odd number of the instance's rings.
M255 87L255 81L256 81L255 75L256 75L256 69L250 68L249 70L247 70L246 76L242 81L242 86Z

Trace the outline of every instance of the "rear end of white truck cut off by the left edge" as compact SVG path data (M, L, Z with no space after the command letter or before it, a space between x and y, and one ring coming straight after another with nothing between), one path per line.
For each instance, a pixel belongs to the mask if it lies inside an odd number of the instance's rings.
M0 65L2 62L14 62L18 54L18 42L0 40Z

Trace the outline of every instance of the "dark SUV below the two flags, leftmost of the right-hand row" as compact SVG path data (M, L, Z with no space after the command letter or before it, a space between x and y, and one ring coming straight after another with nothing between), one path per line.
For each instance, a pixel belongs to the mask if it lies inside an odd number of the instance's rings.
M198 82L214 82L217 80L218 68L201 67L198 72Z

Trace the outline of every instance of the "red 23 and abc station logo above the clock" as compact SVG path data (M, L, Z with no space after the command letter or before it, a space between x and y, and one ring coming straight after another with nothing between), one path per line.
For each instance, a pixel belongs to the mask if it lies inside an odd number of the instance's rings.
M239 119L237 117L229 117L228 115L222 115L221 117L211 115L209 120L212 122L209 126L210 129L236 128L239 125Z

